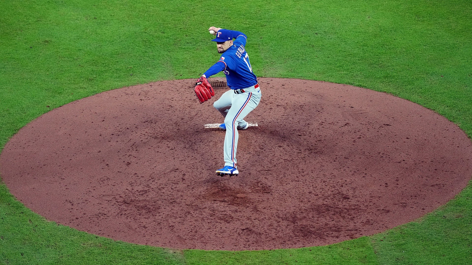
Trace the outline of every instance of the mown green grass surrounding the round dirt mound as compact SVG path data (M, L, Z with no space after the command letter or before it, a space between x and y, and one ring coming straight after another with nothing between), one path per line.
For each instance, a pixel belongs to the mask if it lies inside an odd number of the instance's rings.
M0 0L0 11L0 150L25 124L73 100L198 77L218 59L212 25L248 36L257 76L392 93L472 136L467 0ZM172 250L48 222L1 183L0 264L471 264L471 209L472 182L420 220L370 237L298 249Z

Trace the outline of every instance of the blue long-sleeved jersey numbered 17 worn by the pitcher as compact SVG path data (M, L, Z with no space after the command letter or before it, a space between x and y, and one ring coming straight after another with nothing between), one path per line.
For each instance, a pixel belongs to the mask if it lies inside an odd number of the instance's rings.
M244 48L246 45L246 35L238 31L229 31L221 29L219 31L228 31L233 38L233 46L229 47L219 61L208 69L204 75L208 78L223 71L226 75L226 81L230 89L244 89L257 84L256 75L253 73L249 56Z

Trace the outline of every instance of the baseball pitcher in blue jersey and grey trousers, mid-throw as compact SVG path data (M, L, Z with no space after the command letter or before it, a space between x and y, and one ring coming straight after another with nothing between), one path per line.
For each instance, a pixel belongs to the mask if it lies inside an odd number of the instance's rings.
M229 91L213 103L221 115L225 117L225 123L219 128L226 131L224 144L225 166L216 171L220 176L238 175L236 168L236 150L238 130L248 127L244 117L259 105L261 101L261 89L253 74L249 56L245 45L247 37L239 31L210 27L210 33L215 35L216 47L221 57L218 62L210 67L195 83L195 94L200 103L211 99L215 95L207 77L223 71L226 75ZM233 41L233 39L235 39Z

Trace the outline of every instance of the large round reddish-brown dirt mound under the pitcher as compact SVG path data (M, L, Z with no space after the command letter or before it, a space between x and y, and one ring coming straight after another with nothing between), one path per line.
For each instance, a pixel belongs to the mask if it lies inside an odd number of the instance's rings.
M222 122L194 80L107 91L21 129L1 176L26 207L76 229L169 248L326 245L412 221L472 175L455 124L386 93L260 78L240 174L219 177Z

